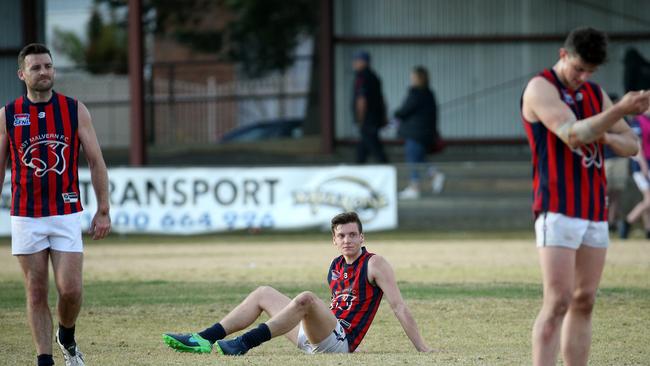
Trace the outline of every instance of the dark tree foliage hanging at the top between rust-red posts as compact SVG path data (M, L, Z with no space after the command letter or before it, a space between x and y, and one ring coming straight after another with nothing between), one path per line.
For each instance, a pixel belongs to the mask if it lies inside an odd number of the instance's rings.
M114 10L128 5L126 0L96 2ZM142 10L145 29L239 62L249 76L291 66L296 46L303 37L314 35L318 21L316 0L149 0ZM218 22L210 26L206 16L215 15L227 19L223 27Z

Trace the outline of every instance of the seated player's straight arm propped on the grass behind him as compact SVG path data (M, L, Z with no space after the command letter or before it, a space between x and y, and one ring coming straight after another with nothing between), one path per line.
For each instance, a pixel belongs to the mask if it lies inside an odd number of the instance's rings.
M411 311L402 298L402 293L395 281L395 272L393 272L393 268L386 259L378 255L370 258L368 263L368 277L371 283L379 286L384 292L395 317L399 320L404 332L415 348L420 352L431 352L431 348L424 342L415 323L415 319L413 319Z

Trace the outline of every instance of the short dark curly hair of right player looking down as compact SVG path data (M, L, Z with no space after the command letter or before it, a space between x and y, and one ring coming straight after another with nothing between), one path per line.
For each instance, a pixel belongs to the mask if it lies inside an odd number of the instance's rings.
M607 34L591 27L572 30L564 41L564 48L590 65L607 62Z

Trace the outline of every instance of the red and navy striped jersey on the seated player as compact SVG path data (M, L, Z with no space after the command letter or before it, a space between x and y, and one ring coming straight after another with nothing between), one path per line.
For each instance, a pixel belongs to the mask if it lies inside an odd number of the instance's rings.
M339 256L332 261L327 275L332 290L330 310L345 329L350 352L368 332L384 294L368 281L368 261L373 255L362 247L361 256L352 264Z

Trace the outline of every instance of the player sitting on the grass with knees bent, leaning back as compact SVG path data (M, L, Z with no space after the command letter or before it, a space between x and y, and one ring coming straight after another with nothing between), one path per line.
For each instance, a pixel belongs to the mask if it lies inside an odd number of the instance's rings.
M290 299L269 286L257 288L221 321L198 333L165 333L163 340L181 352L243 355L271 338L286 336L305 353L354 352L366 335L382 297L415 348L431 349L404 302L391 265L366 250L361 221L348 212L332 219L332 241L341 253L327 272L329 306L312 292ZM252 325L262 312L270 319L244 334L225 340Z

